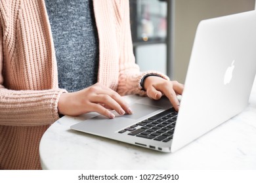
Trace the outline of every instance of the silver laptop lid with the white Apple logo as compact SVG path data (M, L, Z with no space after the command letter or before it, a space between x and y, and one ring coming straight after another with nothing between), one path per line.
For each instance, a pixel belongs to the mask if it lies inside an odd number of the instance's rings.
M256 73L256 12L198 25L171 152L247 106Z

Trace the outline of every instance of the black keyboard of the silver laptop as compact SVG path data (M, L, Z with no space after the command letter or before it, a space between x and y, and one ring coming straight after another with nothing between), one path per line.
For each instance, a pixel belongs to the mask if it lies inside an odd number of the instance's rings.
M129 131L128 135L168 142L173 139L177 114L178 112L174 108L170 108L118 133Z

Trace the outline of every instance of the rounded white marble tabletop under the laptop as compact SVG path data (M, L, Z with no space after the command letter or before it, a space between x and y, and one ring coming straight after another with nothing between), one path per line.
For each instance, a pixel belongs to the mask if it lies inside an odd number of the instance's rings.
M43 135L43 169L256 169L256 80L245 110L175 153L70 129L95 114L64 116Z

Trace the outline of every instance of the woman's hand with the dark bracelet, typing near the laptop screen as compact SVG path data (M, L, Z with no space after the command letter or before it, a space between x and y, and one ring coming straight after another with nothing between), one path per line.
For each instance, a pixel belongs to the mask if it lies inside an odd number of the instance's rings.
M184 85L177 81L165 80L158 76L148 76L144 81L146 94L151 99L158 100L162 95L165 95L170 101L175 110L179 110L179 100L177 94L182 95Z

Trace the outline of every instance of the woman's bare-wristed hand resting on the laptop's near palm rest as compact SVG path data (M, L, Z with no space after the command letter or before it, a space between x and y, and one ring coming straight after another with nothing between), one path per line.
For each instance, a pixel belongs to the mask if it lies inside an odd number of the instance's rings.
M107 118L114 118L109 109L116 110L120 115L125 112L132 114L131 108L118 93L99 83L78 92L62 93L58 101L58 112L70 116L98 112Z

